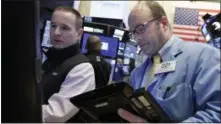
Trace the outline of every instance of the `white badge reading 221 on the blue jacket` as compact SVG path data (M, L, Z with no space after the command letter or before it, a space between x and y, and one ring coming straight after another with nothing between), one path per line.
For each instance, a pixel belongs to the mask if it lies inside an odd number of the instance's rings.
M176 61L163 62L156 65L155 74L172 72L176 69Z

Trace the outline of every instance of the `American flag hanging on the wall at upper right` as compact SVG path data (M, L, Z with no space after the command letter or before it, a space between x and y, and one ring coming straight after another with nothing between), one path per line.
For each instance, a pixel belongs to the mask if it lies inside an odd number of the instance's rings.
M184 41L205 42L200 31L204 24L202 16L206 13L216 15L220 10L175 8L173 33Z

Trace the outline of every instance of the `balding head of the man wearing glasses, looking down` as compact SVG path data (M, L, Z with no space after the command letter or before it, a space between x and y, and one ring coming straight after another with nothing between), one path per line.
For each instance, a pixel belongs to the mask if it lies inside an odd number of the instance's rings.
M155 1L139 1L129 15L128 25L132 38L149 56L157 54L172 36L165 11Z

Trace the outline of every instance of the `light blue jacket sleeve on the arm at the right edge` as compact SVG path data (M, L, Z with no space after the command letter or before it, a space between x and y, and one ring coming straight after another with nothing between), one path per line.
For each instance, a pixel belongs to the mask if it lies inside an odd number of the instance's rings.
M194 73L196 113L184 122L220 122L220 51L206 47Z

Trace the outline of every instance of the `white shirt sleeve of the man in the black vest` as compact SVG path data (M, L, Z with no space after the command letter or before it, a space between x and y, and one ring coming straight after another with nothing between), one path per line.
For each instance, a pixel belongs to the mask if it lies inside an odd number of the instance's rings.
M70 98L95 89L94 69L89 63L75 66L66 76L58 93L42 105L43 122L66 122L79 109L70 102Z

